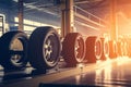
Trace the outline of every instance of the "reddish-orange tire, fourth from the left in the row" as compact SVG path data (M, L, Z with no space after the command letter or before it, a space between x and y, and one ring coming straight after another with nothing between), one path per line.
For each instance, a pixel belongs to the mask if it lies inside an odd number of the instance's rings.
M86 53L84 59L87 60L88 63L96 63L103 52L100 38L96 36L87 37L85 44Z

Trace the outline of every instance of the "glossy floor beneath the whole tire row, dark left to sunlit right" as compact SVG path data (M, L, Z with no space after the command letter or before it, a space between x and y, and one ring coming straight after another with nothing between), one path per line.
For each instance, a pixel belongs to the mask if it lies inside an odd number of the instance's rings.
M26 73L21 72L21 74L14 72L13 76L11 75L10 77L11 73L4 76L1 71L0 87L38 87L40 83L40 87L50 87L50 85L56 87L63 87L63 85L64 87L73 87L72 85L79 87L131 87L131 59L126 57L97 61L97 63L87 64L86 66L79 65L79 69L60 70L52 74L40 74L38 76L29 74L31 71L24 71ZM4 77L7 78L5 80L3 80Z

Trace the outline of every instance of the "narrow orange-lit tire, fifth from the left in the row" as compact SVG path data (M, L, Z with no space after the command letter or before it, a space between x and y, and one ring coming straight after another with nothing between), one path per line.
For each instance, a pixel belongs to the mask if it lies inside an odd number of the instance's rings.
M100 60L107 60L107 58L109 57L109 44L105 38L100 38L102 40L102 57Z

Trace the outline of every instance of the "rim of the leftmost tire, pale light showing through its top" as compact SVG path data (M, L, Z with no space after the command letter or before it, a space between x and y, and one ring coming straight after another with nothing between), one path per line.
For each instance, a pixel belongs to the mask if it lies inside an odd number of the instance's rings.
M23 45L23 38L17 37L11 41L10 45L10 61L14 65L21 65L23 64L23 58L24 58L24 45Z

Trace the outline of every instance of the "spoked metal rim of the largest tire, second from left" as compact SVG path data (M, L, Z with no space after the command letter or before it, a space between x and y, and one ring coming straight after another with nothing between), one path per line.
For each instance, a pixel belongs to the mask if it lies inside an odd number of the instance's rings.
M58 53L59 51L59 40L55 34L50 34L45 39L45 44L43 47L44 60L50 66L53 66L58 61Z

